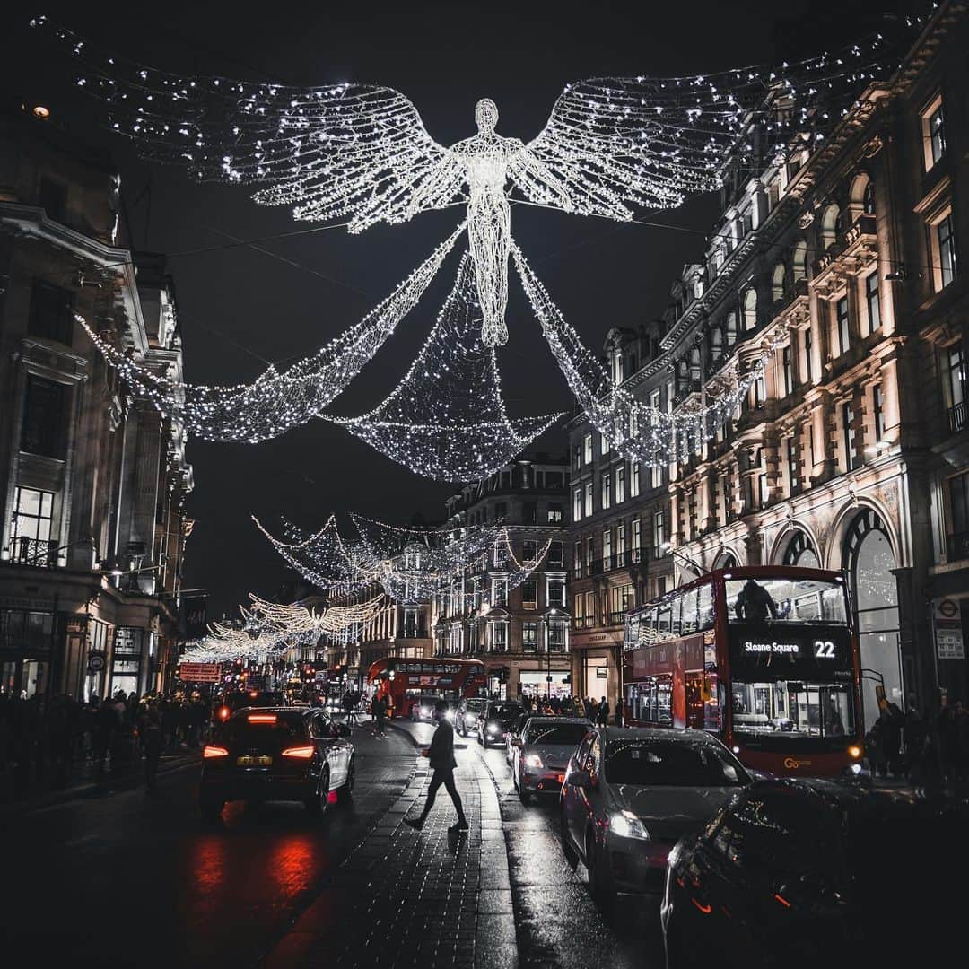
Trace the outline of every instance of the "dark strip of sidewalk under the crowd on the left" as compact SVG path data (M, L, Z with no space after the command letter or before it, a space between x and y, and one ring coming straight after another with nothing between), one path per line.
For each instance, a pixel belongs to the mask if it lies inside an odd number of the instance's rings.
M201 760L201 747L166 752L158 766L159 777ZM109 762L99 771L93 761L78 760L70 766L67 783L63 786L57 784L53 766L47 767L43 777L33 776L29 780L26 790L17 791L16 769L8 767L0 774L0 813L25 813L78 797L138 787L144 781L144 761L135 755L114 764Z

